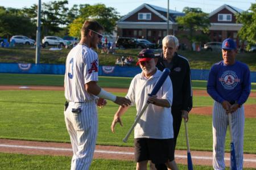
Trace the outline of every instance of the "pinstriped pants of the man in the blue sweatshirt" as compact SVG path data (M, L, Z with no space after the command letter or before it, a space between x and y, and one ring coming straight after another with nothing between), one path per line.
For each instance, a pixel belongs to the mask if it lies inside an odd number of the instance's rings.
M243 168L243 128L245 125L245 114L243 105L238 108L232 116L232 133L234 148L236 150L237 169ZM221 103L217 101L213 105L213 168L225 169L224 152L225 152L225 137L229 125L229 117ZM230 145L229 145L230 146ZM230 148L229 148L230 150Z

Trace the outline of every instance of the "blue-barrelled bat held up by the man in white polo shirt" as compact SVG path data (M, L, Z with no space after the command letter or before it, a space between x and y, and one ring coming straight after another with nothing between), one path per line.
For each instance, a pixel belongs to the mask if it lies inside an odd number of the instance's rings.
M154 96L154 95L157 94L157 92L159 91L160 87L163 86L163 83L166 80L167 76L169 76L170 72L171 71L169 69L164 69L163 70L163 73L161 74L161 76L156 81L156 84L153 87L153 90L151 91L150 94L148 94L148 96ZM126 134L125 138L123 138L123 142L127 142L127 140L130 137L130 134L133 131L135 125L138 123L138 121L140 120L142 114L146 111L146 109L147 109L149 104L150 104L149 101L147 101L147 103L144 105L144 107L142 108L141 112L138 114L137 118L135 119L135 121L134 121L133 125L131 126L130 130Z

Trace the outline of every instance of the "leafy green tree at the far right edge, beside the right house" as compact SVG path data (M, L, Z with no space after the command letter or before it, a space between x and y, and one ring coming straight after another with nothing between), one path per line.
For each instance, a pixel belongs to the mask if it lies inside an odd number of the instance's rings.
M247 48L256 44L256 3L252 3L249 10L237 15L237 22L243 26L238 36L248 42Z

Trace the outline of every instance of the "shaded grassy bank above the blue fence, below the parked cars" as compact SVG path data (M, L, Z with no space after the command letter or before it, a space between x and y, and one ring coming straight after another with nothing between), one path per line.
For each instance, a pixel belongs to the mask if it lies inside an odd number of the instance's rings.
M50 51L48 48L41 49L40 63L56 63L63 64L71 49L63 49ZM101 53L98 50L100 65L114 65L115 59L122 56L132 56L137 61L138 53L141 49L125 49L116 50L115 54ZM158 50L156 53L160 53ZM221 52L191 52L189 50L179 50L179 54L188 58L191 69L210 69L213 63L222 59ZM0 62L19 62L19 63L35 63L35 49L27 46L16 46L15 48L0 48ZM255 53L238 53L237 59L245 62L251 71L256 70ZM135 66L135 62L133 63Z

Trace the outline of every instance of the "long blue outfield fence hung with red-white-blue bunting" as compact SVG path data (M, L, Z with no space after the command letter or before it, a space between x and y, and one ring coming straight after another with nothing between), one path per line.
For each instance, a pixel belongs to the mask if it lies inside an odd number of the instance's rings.
M0 63L0 73L19 74L65 74L65 65L34 63ZM99 66L100 76L133 77L141 73L140 67ZM209 70L191 69L192 80L208 80ZM256 82L256 72L251 71L251 82Z

